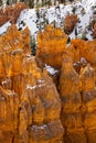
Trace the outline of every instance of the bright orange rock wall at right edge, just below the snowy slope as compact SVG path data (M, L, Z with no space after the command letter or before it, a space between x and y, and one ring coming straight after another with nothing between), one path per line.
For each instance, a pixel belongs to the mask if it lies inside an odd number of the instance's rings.
M71 46L75 50L76 56L75 62L79 61L81 57L86 58L88 63L94 65L96 63L96 41L83 41L83 40L72 40ZM77 51L77 52L76 52Z

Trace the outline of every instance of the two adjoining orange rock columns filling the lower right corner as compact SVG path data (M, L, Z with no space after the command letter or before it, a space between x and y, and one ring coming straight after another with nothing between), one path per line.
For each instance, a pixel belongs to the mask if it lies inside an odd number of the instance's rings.
M61 120L65 143L95 143L95 69L87 65L79 75L70 58L64 58L60 77Z

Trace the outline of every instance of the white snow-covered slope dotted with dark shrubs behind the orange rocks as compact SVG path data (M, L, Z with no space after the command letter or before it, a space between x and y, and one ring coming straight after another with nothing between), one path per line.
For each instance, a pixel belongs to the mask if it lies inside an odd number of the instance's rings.
M82 2L81 2L82 1ZM18 28L24 29L28 26L31 31L32 36L36 37L36 34L40 30L43 30L46 23L53 24L54 21L56 26L63 28L64 18L73 13L74 7L76 8L75 13L77 14L79 22L76 24L75 29L77 30L77 36L75 35L75 30L71 33L71 38L82 37L83 33L86 32L86 37L92 40L92 31L88 30L90 21L93 21L93 9L92 7L96 6L96 0L79 0L70 4L60 4L60 7L51 8L41 8L39 11L36 9L23 10L17 21ZM39 13L38 13L38 12ZM40 14L38 18L38 14ZM23 25L23 23L25 25ZM6 24L0 28L0 34L7 31L7 28L10 25Z

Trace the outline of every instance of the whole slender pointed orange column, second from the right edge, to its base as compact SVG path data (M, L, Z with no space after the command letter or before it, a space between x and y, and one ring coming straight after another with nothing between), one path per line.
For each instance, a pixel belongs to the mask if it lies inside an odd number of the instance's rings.
M60 77L62 100L61 120L65 129L65 143L86 143L82 124L79 76L73 68L72 58L65 53Z

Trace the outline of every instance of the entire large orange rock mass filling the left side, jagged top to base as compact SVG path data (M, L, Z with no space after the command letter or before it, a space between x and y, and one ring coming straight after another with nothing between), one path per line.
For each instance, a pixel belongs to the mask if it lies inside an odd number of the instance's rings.
M31 56L29 30L0 37L0 143L60 143L61 100Z

